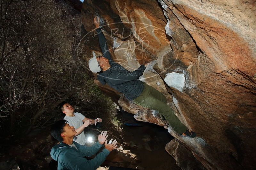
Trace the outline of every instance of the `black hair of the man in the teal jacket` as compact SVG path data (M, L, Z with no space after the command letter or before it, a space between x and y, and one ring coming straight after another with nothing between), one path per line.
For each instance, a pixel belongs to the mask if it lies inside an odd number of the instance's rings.
M63 128L66 125L66 123L68 123L68 121L62 119L62 120L59 120L58 122L56 122L55 124L53 124L52 128L51 128L52 137L57 139L60 142L63 141L63 138L60 136L60 134L65 132Z

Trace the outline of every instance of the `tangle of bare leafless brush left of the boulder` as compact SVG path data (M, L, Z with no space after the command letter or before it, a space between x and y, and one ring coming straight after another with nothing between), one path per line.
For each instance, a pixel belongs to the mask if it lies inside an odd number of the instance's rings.
M87 109L98 100L95 84L75 53L81 21L70 11L52 0L1 0L2 133L24 124L28 131L44 126L69 97L87 103Z

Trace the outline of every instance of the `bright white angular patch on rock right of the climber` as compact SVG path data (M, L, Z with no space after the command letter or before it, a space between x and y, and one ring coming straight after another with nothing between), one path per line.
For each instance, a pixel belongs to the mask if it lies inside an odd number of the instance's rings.
M182 73L167 73L164 81L169 87L183 92L185 87L185 75Z

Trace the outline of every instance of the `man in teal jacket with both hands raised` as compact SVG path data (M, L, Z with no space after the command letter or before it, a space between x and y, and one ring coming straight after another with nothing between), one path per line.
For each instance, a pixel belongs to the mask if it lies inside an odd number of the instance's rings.
M58 161L58 170L95 170L106 159L109 152L116 148L117 141L114 140L112 144L107 144L108 135L106 132L101 132L98 136L98 142L91 147L79 145L73 141L76 131L70 127L66 120L56 122L51 129L52 136L60 141L60 144L52 147L52 159ZM112 140L112 139L111 139ZM96 154L105 143L105 149L91 160L83 157L90 157Z

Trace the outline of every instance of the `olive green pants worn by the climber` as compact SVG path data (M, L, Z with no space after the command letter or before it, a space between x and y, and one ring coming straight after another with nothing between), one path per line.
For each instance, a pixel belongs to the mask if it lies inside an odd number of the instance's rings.
M165 117L168 123L172 126L173 130L177 133L182 134L187 130L187 127L182 124L179 118L174 114L174 110L172 110L170 106L166 104L165 96L152 86L144 83L142 93L140 96L135 98L133 102L142 107L159 111L159 114Z

